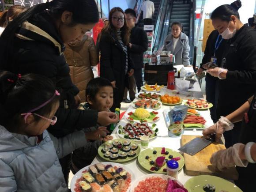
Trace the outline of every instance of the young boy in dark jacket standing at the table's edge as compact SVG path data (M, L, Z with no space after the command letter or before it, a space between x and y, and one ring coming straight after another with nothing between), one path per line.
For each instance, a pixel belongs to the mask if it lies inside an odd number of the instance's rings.
M113 87L108 79L98 77L91 79L86 88L87 103L82 106L83 109L109 111L113 105ZM96 128L100 128L97 124ZM91 128L95 129L95 127ZM85 132L90 131L86 128ZM98 147L102 143L113 139L113 136L101 136L99 140L88 142L86 146L81 147L72 153L72 173L76 173L85 166L90 165L98 154Z

